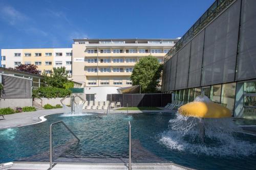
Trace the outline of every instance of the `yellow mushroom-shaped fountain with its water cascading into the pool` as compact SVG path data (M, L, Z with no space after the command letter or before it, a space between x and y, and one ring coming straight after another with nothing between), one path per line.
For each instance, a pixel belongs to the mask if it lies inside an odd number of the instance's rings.
M256 144L241 137L242 129L234 125L230 111L211 102L207 96L181 106L169 130L160 141L167 148L191 154L211 156L248 156L256 154Z

